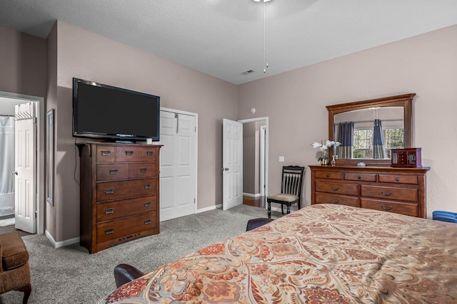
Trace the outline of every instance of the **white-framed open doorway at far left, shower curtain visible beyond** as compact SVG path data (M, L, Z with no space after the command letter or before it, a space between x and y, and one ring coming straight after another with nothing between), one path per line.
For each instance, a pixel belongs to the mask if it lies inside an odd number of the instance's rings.
M11 140L11 132L13 132L12 136L14 138L14 115L15 115L15 106L24 103L36 103L36 148L35 151L31 152L36 155L36 177L34 178L35 189L36 189L36 212L34 216L36 216L36 232L38 234L44 233L44 200L43 200L43 181L44 181L44 126L43 121L40 119L44 113L44 98L29 96L29 95L19 95L15 93L6 93L0 92L0 116L4 117L2 122L5 122L4 125L8 125L8 135L4 137L4 140ZM7 117L7 118L6 118ZM6 124L8 122L8 124ZM4 130L5 131L5 130ZM11 131L11 132L10 132ZM11 143L10 143L11 144ZM12 143L14 146L14 142ZM11 150L11 145L8 145ZM14 166L14 159L16 151L13 149L11 152L6 153L2 159L2 163L5 165L1 167L5 167L2 169L2 180L0 181L2 186L2 193L4 194L4 200L1 201L0 208L4 209L4 212L0 216L0 228L4 229L4 227L10 227L11 225L14 227L14 214L15 214L15 206L11 206L11 198L14 201L16 198L16 189L15 187L11 187L11 177L14 181L14 172L16 171ZM8 166L6 164L9 164ZM11 164L13 164L11 169Z

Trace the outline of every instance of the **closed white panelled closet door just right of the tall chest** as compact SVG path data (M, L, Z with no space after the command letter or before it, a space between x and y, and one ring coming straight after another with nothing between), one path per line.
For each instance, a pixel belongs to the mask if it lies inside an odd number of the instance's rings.
M196 212L196 116L161 110L160 219Z

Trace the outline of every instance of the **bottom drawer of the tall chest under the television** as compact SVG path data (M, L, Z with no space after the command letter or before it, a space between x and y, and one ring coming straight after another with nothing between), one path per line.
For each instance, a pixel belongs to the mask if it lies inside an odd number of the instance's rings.
M97 224L97 242L101 243L111 239L129 239L139 231L156 228L156 212L131 216L116 221L106 221Z

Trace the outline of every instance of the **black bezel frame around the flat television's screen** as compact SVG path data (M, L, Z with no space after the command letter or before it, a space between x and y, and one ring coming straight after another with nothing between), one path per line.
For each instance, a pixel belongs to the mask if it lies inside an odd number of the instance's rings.
M76 118L78 117L77 108L78 108L78 85L79 85L79 83L84 83L86 85L94 85L94 86L98 86L101 88L108 88L111 90L119 90L119 91L130 93L130 94L143 95L143 96L147 96L147 97L156 99L156 105L157 105L157 117L156 117L157 132L156 132L156 135L138 136L138 135L126 135L126 134L120 134L120 133L109 134L109 133L104 133L104 132L89 132L89 131L78 132ZM113 85L106 85L104 83L98 83L98 82L91 81L91 80L73 78L73 108L72 108L71 120L72 120L71 127L72 127L73 137L86 137L86 138L94 138L94 139L100 139L100 140L106 140L106 141L116 141L116 142L136 142L138 140L141 141L141 140L147 140L150 138L153 142L159 142L160 141L160 96L147 94L147 93L141 93L141 92L129 90L126 88L119 88L119 87L115 87Z

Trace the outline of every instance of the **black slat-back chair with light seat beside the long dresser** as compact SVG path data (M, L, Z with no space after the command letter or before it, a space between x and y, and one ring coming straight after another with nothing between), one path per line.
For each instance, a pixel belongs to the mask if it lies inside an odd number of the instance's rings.
M283 205L287 206L287 214L291 213L292 204L298 203L298 209L301 209L303 172L305 172L305 167L283 166L281 193L266 196L266 202L268 203L268 219L271 218L271 203L281 204L282 214L284 214Z

